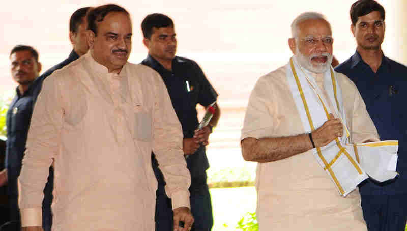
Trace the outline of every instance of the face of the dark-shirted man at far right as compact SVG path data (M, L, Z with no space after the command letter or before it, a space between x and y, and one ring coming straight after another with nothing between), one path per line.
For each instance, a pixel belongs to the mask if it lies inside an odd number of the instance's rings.
M351 30L358 44L358 49L381 49L385 36L385 22L379 11L372 11L359 17L356 24L351 26Z

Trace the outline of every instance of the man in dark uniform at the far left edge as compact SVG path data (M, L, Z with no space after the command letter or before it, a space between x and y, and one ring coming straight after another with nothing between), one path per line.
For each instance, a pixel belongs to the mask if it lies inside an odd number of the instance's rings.
M33 113L33 82L41 71L38 52L31 46L18 45L10 52L11 74L18 83L16 96L7 111L5 169L0 172L0 186L8 183L9 219L20 221L17 178L25 151L28 128Z

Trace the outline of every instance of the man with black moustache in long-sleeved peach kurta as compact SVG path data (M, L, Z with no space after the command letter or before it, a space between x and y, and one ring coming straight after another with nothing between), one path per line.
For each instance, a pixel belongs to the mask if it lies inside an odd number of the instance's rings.
M179 230L187 230L193 222L190 175L165 85L152 69L126 62L127 11L97 7L88 21L94 23L90 51L45 80L35 107L19 179L22 226L41 225L42 189L53 159L52 230L154 230L153 150L174 219L185 221Z

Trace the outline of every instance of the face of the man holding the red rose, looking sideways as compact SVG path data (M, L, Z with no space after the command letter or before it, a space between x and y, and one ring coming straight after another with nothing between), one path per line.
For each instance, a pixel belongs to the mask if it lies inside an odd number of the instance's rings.
M177 52L177 38L172 26L153 28L150 39L143 39L149 54L158 62L171 62Z

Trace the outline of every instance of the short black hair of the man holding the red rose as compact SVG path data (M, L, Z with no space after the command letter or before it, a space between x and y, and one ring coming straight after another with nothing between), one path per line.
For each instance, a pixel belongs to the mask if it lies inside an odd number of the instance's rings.
M150 39L153 34L153 28L174 27L172 19L166 15L154 13L147 15L141 22L141 31L146 39Z

